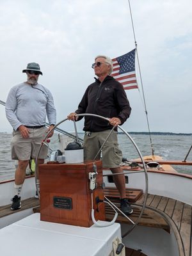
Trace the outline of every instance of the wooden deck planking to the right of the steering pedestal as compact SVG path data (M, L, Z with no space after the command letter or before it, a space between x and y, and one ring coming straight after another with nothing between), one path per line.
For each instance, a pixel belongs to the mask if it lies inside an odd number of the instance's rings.
M110 188L108 188L108 195L109 190ZM108 198L109 197L110 196L108 196ZM129 194L127 197L129 198ZM117 207L120 206L118 197L110 197L110 200L116 204ZM133 213L130 216L131 220L137 220L143 200L144 196L142 195L136 203L132 204ZM110 221L113 216L114 211L111 211L110 207L106 205L106 220ZM116 221L130 224L121 214L118 215ZM163 228L167 232L170 232L172 229L179 243L180 255L191 256L191 221L191 205L164 196L148 195L146 208L138 225Z

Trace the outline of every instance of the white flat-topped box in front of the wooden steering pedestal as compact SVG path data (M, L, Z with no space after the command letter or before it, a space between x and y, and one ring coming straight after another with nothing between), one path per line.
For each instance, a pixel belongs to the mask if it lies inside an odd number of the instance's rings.
M116 237L121 237L118 223L76 227L40 221L35 213L0 230L0 255L108 256Z

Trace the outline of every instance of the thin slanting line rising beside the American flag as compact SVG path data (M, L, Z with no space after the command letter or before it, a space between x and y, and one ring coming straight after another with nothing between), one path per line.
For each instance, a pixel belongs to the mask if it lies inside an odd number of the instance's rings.
M145 102L145 93L143 90L143 80L142 80L142 76L141 76L141 68L140 68L140 60L139 60L139 56L138 56L138 48L137 48L137 42L136 42L136 35L134 32L134 24L133 24L133 19L132 19L132 12L131 12L131 4L130 4L130 0L129 1L129 11L131 14L131 24L132 24L132 32L133 32L133 36L134 36L134 44L136 47L136 56L137 56L137 60L138 60L138 68L139 68L139 74L140 74L140 79L141 79L141 88L142 88L142 93L143 93L143 102L144 102L144 108L145 108L145 115L147 118L147 126L148 126L148 134L149 134L149 138L150 138L150 147L152 150L152 156L154 156L154 148L153 148L153 144L152 144L152 138L151 138L151 133L150 133L150 127L149 127L149 122L148 122L148 113L147 113L147 106L146 106L146 102Z

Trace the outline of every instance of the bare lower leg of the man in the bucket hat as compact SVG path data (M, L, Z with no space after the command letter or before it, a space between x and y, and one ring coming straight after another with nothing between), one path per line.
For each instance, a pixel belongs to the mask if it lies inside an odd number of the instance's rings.
M24 183L24 180L26 179L26 168L28 167L29 160L19 160L17 169L15 171L15 184L21 185Z

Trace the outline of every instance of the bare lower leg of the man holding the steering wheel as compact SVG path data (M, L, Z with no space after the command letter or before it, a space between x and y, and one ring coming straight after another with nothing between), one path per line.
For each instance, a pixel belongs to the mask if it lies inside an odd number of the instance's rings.
M113 173L121 173L122 169L120 167L116 168L111 168L111 172ZM118 189L120 193L120 198L126 198L126 193L125 193L125 175L120 174L120 175L114 175L113 180L115 182L115 186Z

